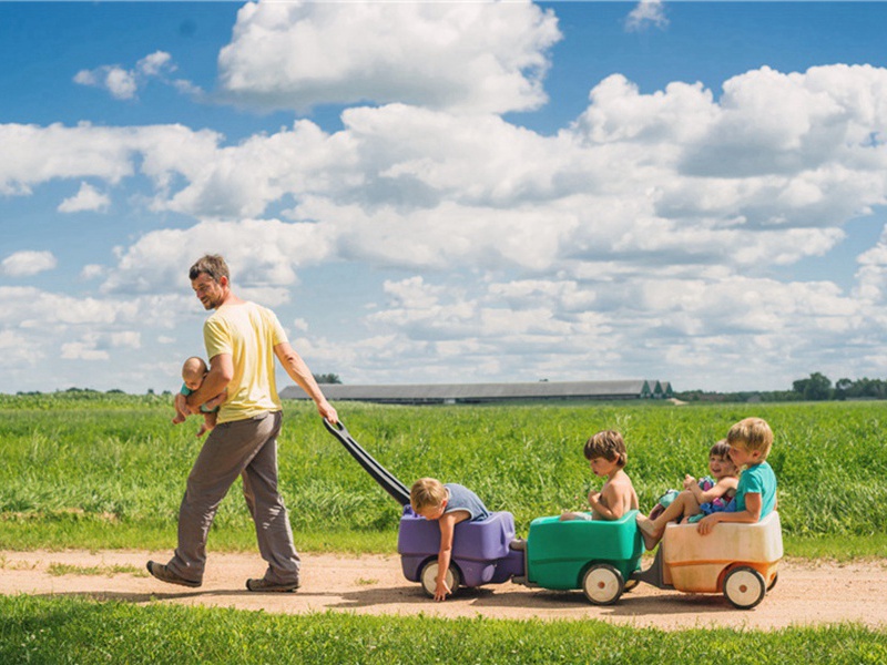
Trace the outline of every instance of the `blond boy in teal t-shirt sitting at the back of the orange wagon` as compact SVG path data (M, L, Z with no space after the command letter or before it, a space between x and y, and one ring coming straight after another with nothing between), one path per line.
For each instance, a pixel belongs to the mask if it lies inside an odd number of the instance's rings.
M741 420L727 432L730 459L737 469L745 467L736 485L736 495L727 508L702 518L696 531L707 535L718 522L755 523L776 508L776 474L766 462L773 446L773 431L761 418ZM651 529L642 519L638 521L648 549L662 539L661 531ZM652 543L652 545L651 545Z

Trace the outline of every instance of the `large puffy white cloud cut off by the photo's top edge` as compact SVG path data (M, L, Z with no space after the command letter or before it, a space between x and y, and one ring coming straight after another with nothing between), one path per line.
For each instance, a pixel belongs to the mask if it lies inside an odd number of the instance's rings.
M405 102L521 111L544 102L557 18L530 2L245 4L218 57L243 104Z

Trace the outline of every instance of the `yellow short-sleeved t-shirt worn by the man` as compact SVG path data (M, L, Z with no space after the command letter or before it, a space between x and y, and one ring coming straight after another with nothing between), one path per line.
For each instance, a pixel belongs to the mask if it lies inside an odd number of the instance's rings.
M223 305L203 325L203 341L212 360L230 354L234 376L218 422L246 420L281 410L274 379L274 347L288 341L271 309L255 303Z

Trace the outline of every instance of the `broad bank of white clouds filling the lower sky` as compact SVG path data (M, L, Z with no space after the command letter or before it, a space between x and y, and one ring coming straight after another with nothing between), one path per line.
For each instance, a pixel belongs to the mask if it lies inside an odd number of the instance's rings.
M402 103L349 109L333 133L299 121L236 144L182 126L0 125L4 194L88 180L110 195L144 176L145 207L196 219L84 268L102 278L93 299L0 293L0 335L67 330L37 347L45 357L142 351L155 338L128 336L140 317L196 317L187 266L222 252L237 291L300 332L326 330L290 305L304 272L373 268L379 284L359 285L369 303L347 342L299 340L313 369L349 382L667 367L684 387L711 370L711 386L731 389L788 386L791 364L871 375L887 361L848 349L887 327L887 242L859 257L847 293L774 275L880 214L885 116L887 70L830 65L746 72L720 98L685 83L642 94L613 75L550 136Z

